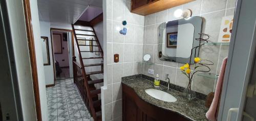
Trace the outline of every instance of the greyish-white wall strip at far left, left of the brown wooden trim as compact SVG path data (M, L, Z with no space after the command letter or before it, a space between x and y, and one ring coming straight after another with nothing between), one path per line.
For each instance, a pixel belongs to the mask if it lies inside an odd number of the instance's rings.
M7 9L13 42L23 119L36 120L33 83L22 0L8 0Z

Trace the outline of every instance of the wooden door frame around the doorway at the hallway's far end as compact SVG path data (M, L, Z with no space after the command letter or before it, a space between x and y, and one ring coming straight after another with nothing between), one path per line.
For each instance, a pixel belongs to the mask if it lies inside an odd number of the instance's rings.
M56 68L55 68L55 62L54 62L54 53L53 53L53 40L52 40L52 31L65 31L65 32L71 32L71 42L72 42L72 57L75 55L74 52L74 33L73 30L68 30L68 29L58 29L58 28L50 28L50 34L51 34L51 45L52 45L52 62L53 62L53 72L54 72L54 84L55 85L55 81L56 81Z

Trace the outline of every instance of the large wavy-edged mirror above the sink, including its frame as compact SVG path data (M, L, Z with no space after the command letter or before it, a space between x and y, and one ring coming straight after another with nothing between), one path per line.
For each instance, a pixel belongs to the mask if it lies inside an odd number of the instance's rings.
M196 38L200 38L201 28L202 18L199 16L163 22L159 27L159 59L188 63L191 49L200 44ZM192 54L198 57L198 50L193 50Z

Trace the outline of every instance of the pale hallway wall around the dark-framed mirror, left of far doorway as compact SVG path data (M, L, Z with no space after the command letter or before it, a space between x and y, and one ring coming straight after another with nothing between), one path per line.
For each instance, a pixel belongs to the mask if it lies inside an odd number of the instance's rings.
M50 34L50 22L39 21L40 22L40 36L48 37L49 44L49 55L50 55L50 65L45 65L45 83L46 85L54 84L54 71L53 71L53 60L52 60L52 42Z

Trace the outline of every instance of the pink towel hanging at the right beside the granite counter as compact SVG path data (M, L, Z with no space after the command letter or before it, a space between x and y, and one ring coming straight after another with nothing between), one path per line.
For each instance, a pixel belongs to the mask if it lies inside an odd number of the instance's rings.
M224 60L222 62L220 75L219 75L219 79L218 79L215 94L214 94L214 99L212 100L210 108L206 113L206 117L210 121L216 121L217 120L217 115L218 115L217 114L217 112L218 112L217 108L218 108L218 104L219 104L219 101L220 101L219 100L220 99L220 94L222 92L222 84L223 84L223 80L224 80L226 64L227 64L227 57L224 58Z

